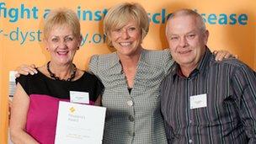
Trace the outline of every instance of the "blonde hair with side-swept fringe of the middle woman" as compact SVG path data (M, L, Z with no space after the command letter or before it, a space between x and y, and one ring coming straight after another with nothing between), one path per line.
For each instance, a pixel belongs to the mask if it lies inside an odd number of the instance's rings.
M111 30L120 29L131 19L135 20L141 29L141 40L145 38L149 29L147 12L139 3L120 3L110 8L104 18L104 35L107 36L107 44L112 46L109 37Z

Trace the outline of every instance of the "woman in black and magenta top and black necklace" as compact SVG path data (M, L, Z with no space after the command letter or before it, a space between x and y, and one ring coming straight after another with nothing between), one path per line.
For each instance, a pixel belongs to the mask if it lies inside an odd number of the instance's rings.
M81 43L76 13L60 8L45 19L45 47L51 60L36 75L18 77L13 96L11 139L14 143L53 144L59 101L69 101L70 91L86 92L90 104L100 105L99 79L72 63Z

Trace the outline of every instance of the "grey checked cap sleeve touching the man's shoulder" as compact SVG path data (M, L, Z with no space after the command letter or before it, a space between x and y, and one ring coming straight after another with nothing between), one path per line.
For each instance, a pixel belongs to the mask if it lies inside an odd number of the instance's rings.
M168 73L170 72L170 69L173 66L173 62L174 61L169 49L164 49L163 50L163 68L164 68L165 76L167 76Z

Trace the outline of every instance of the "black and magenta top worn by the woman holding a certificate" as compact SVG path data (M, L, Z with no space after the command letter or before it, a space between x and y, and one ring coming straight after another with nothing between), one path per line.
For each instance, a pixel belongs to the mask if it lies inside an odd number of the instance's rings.
M88 72L76 81L54 80L38 72L16 79L29 95L29 110L25 131L42 144L53 144L59 101L69 101L70 91L87 92L90 104L94 104L103 91L103 84Z

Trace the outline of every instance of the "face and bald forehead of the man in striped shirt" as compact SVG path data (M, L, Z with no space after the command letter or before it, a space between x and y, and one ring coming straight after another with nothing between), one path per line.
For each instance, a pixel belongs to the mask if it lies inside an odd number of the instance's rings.
M168 21L167 39L173 60L180 67L197 67L205 54L208 31L194 15L178 15Z

